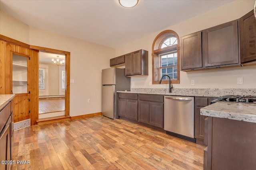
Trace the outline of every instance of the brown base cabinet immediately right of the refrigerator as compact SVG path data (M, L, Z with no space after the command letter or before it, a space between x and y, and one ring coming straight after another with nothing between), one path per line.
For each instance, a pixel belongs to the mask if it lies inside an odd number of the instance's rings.
M118 115L138 121L138 94L118 93Z

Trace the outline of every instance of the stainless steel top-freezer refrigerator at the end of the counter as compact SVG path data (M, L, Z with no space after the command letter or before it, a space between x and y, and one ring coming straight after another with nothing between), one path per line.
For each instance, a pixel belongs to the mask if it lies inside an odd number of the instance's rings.
M125 76L124 68L106 68L102 70L102 115L118 119L117 91L130 90L130 77Z

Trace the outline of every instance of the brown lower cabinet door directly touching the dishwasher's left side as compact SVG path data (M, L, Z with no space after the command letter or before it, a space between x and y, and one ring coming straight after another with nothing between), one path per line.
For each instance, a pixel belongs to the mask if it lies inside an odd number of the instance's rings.
M150 125L163 128L163 108L163 103L150 102Z

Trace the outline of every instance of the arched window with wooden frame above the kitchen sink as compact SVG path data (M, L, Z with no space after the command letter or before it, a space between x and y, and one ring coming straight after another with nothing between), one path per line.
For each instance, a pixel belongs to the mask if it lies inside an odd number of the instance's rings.
M180 41L172 30L159 33L152 45L152 83L157 84L163 75L172 79L172 84L180 83ZM166 76L162 83L168 83Z

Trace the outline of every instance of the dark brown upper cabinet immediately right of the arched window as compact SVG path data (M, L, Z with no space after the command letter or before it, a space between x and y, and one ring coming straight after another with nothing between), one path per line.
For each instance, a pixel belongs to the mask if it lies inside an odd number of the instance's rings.
M201 31L181 37L180 58L180 66L183 71L203 68Z

